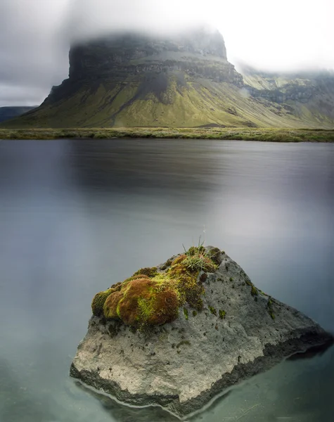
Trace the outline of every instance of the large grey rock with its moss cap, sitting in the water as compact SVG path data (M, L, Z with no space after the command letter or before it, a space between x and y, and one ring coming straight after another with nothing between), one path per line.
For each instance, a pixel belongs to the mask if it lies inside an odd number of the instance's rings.
M177 416L291 354L333 341L211 247L139 270L96 295L92 306L71 376L121 402L160 405Z

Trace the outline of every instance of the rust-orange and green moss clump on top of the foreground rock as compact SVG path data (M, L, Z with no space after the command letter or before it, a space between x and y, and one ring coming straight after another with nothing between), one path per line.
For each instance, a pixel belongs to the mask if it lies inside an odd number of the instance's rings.
M207 279L206 272L215 269L217 265L205 248L191 248L191 252L169 262L165 271L142 268L129 279L98 293L92 303L93 313L135 328L172 322L183 305L190 305L195 312L203 309L203 281ZM199 276L201 271L206 272Z

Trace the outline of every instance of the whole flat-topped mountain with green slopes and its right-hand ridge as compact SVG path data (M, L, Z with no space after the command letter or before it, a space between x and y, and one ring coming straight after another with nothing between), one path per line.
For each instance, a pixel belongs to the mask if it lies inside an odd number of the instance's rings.
M113 34L72 46L69 78L6 127L334 126L332 73L244 73L215 30Z

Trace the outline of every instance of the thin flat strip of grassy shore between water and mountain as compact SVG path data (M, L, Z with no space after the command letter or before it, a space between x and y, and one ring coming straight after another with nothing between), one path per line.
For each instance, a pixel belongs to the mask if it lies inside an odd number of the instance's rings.
M267 142L334 142L334 129L119 128L0 129L0 139L221 139Z

